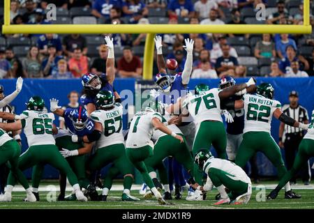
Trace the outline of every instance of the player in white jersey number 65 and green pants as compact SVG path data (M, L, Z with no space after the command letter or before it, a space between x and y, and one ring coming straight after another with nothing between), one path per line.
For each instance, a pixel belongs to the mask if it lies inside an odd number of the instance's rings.
M15 123L0 123L0 128L8 131L24 129L29 148L20 156L20 170L23 171L38 163L51 164L52 167L59 169L68 176L68 180L75 190L77 200L87 201L87 197L80 190L77 177L55 145L55 140L52 136L53 132L57 131L52 123L54 114L43 112L44 107L44 100L39 96L33 96L27 102L27 110L22 112L19 121ZM3 197L4 200L11 200L15 181L16 177L10 171L6 192Z

